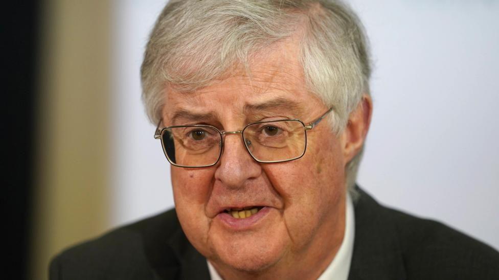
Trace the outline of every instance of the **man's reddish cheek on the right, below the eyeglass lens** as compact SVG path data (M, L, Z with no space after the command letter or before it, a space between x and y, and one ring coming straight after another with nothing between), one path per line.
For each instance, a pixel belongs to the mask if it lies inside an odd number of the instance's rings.
M335 219L345 193L339 145L333 141L313 145L298 160L263 168L284 200L283 217L294 248L306 247L317 231Z

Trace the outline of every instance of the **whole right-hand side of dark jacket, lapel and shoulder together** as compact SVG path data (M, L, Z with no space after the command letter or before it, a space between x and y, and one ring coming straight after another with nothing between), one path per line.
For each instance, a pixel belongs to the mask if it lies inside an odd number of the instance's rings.
M352 259L357 268L407 279L499 279L499 252L490 246L440 222L381 206L359 191L354 256L361 261Z

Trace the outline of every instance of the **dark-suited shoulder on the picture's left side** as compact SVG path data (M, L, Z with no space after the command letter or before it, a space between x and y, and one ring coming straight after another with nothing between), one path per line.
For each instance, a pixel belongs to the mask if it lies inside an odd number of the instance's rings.
M154 278L159 252L162 265L178 266L169 244L176 235L183 232L172 209L66 249L51 262L50 278Z

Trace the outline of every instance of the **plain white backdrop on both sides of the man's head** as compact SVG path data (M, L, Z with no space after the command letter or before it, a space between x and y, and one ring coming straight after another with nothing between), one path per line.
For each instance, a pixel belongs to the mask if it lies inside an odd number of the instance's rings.
M173 206L139 69L165 1L114 3L113 225ZM499 248L499 3L350 1L366 26L374 115L358 182Z

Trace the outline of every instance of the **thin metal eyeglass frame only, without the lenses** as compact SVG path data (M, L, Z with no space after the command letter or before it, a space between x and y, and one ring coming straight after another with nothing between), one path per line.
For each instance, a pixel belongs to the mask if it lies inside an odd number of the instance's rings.
M305 151L307 150L307 130L313 129L332 110L333 110L333 107L329 108L329 110L327 110L319 118L317 118L313 122L309 123L308 125L305 125L301 120L298 120L298 119L284 119L284 120L276 120L276 121L264 121L264 122L251 123L251 124L247 124L242 130L235 130L235 131L220 131L218 128L216 128L214 126L211 126L211 125L187 125L187 126L185 126L185 125L177 125L177 126L167 126L167 127L164 127L162 129L160 129L160 125L163 122L163 119L161 119L160 122L158 122L158 124L157 124L156 131L154 132L154 139L160 139L161 140L161 146L163 148L163 152L164 152L164 154L166 156L166 159L168 159L168 162L170 162L171 165L176 166L176 167L183 167L183 168L204 168L204 167L211 167L211 166L216 165L218 163L218 161L220 160L220 157L222 156L223 145L224 145L224 143L223 143L223 141L224 141L223 135L226 135L226 134L241 134L241 138L243 139L243 143L244 143L244 147L246 148L246 151L257 162L260 162L262 164L273 164L273 163L277 163L277 162L286 162L286 161L291 161L291 160L299 159L300 157L302 157L305 154ZM282 122L282 121L297 121L297 122L300 122L303 125L303 128L305 129L305 147L303 149L303 153L301 155L299 155L299 156L296 156L296 157L293 157L293 158L290 158L290 159L285 159L285 160L264 161L264 160L259 160L259 159L255 158L255 156L253 156L253 154L250 152L250 148L248 148L248 144L246 143L246 141L244 141L244 136L243 136L244 130L248 126L255 125L255 124L273 123L273 122ZM183 165L177 165L177 164L175 164L170 159L170 157L168 156L168 153L166 152L165 142L163 141L163 131L165 131L166 129L169 129L169 128L176 128L176 127L209 127L211 129L214 129L215 131L217 131L220 134L220 139L221 139L220 154L218 155L217 160L213 164L203 165L203 166L183 166Z

